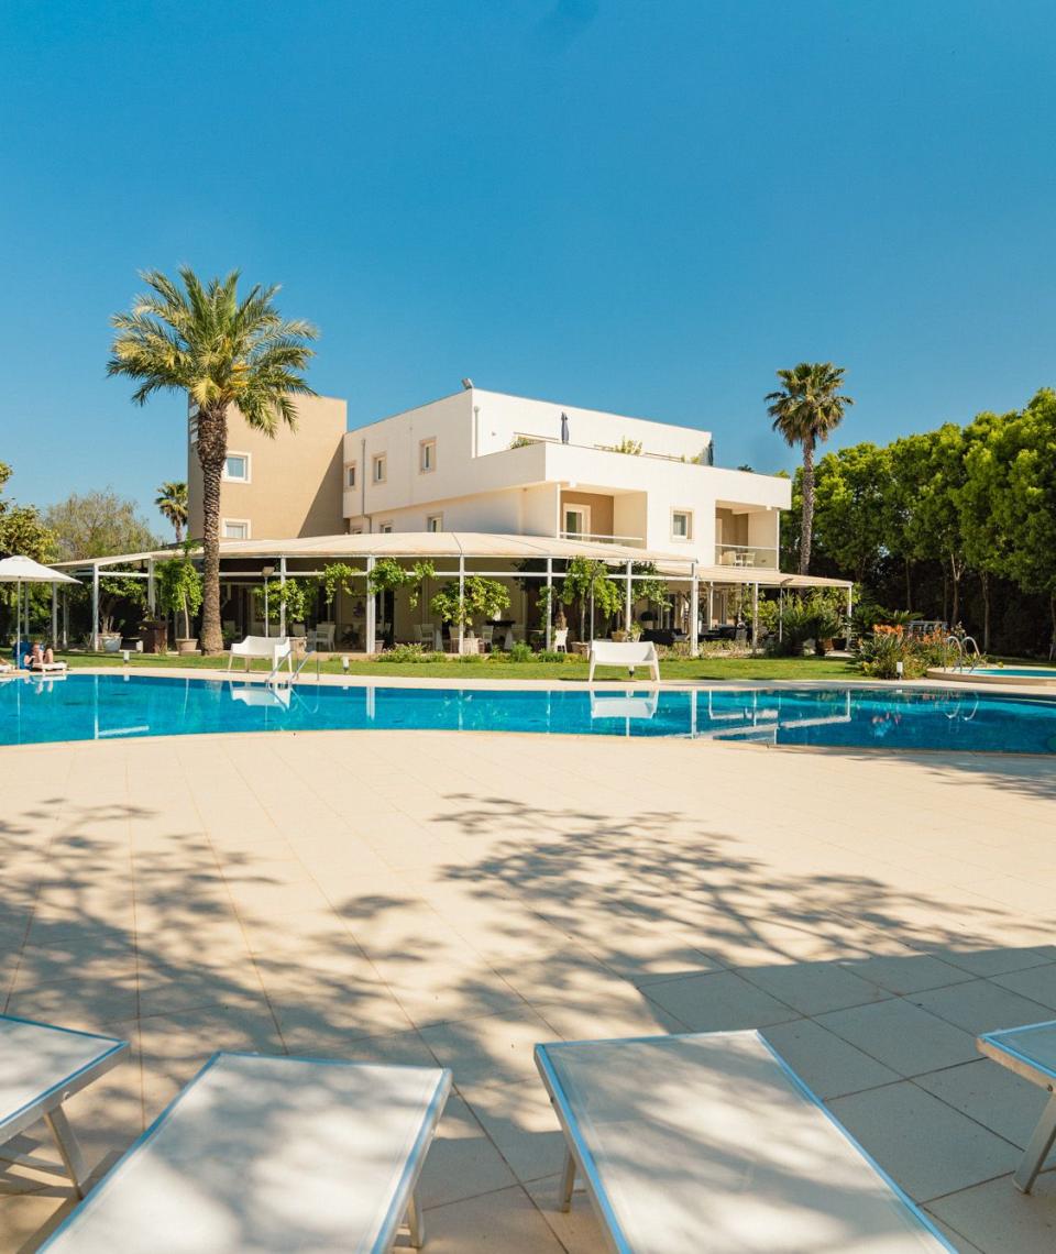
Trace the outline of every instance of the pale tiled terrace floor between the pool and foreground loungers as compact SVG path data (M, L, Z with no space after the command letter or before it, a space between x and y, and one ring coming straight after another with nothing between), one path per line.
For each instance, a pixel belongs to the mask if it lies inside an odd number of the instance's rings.
M217 1047L436 1060L433 1254L586 1254L532 1045L763 1027L958 1248L1056 1245L1045 1095L973 1046L1056 1017L1051 761L246 735L6 749L0 796L0 1007L133 1042L100 1166Z

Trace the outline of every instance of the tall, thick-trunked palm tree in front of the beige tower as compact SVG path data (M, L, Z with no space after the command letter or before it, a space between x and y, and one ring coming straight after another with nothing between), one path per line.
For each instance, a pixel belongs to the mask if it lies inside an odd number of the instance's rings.
M115 314L108 375L138 381L133 401L156 391L187 394L197 416L202 466L202 652L219 653L219 484L227 459L232 405L253 429L275 435L280 421L297 424L293 396L314 396L301 371L319 334L310 322L287 321L275 307L278 287L252 287L238 298L238 271L203 283L187 266L179 283L157 270L140 278L149 288Z

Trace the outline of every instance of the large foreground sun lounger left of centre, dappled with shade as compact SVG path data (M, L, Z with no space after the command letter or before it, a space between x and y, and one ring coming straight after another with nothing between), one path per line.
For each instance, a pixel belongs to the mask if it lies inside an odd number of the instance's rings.
M450 1091L439 1067L217 1053L41 1246L388 1254Z

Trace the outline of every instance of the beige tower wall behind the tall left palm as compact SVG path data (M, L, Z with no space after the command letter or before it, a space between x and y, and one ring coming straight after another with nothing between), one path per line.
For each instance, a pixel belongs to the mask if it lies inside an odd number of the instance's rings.
M228 453L250 455L250 482L221 484L223 519L246 519L250 539L336 535L345 530L341 508L342 441L347 406L332 396L297 398L297 429L275 438L252 430L235 410L228 418ZM194 445L187 450L189 534L202 534L202 470Z

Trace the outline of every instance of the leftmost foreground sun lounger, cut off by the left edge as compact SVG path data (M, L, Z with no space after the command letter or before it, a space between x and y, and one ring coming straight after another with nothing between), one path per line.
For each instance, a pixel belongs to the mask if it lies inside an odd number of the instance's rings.
M0 1014L0 1161L66 1175L83 1196L84 1159L63 1102L127 1052L127 1041ZM40 1120L55 1137L61 1164L11 1150L14 1137Z

